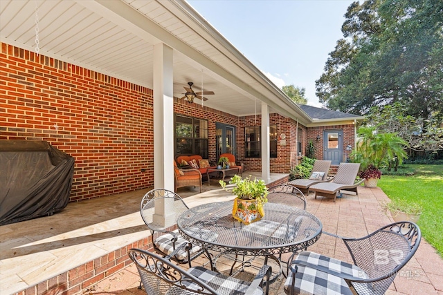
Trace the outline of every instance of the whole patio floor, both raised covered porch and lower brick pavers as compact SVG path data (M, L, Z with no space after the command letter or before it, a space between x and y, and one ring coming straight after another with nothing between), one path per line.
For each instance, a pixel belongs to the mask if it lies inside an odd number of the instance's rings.
M282 177L271 176L275 181ZM186 198L189 207L233 198L218 189L215 182L210 187L204 185L204 190L198 193L198 188L179 189L178 193ZM139 279L132 264L124 269L111 268L94 278L86 276L86 272L80 274L79 269L83 264L87 269L88 263L123 246L138 247L136 241L147 237L147 227L138 213L139 201L146 191L70 203L54 216L0 227L0 293L22 294L27 289L26 294L45 294L51 286L58 285L57 294L143 294L136 288ZM359 196L346 195L335 204L331 199L314 200L311 193L307 196L307 211L320 218L325 231L365 236L392 222L378 209L379 202L386 199L379 188L360 187ZM344 245L329 236L321 236L309 250L350 261ZM122 253L123 260L125 256ZM442 294L442 268L443 259L422 239L417 253L397 276L388 294ZM89 285L80 287L80 280L88 281ZM71 289L75 283L79 286L77 290ZM270 294L284 294L283 283L284 278L273 283ZM55 294L52 290L51 294Z

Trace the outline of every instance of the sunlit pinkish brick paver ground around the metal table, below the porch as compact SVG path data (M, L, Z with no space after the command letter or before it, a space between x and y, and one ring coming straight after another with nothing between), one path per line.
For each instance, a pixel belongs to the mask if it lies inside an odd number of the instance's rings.
M359 188L359 196L344 195L334 203L332 199L307 196L307 211L314 213L323 222L323 230L340 236L360 237L392 222L379 210L379 203L388 200L379 188ZM309 248L352 262L343 242L323 235ZM197 262L198 263L198 262ZM410 262L401 270L386 294L443 294L443 259L435 249L422 239L419 249ZM138 272L131 265L106 280L91 286L84 294L145 294L137 289ZM284 294L281 276L271 285L270 294Z

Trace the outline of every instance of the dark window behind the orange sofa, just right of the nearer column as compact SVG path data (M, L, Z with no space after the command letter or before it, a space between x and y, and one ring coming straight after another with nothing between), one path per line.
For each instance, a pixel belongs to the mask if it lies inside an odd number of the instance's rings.
M175 153L208 159L208 121L175 115Z

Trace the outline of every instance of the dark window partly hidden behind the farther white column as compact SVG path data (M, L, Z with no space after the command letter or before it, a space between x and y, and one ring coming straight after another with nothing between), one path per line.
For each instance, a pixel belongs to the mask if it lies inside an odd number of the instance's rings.
M246 142L244 144L246 158L260 158L261 157L261 144L260 144L260 130L261 126L248 126L245 127L245 138ZM269 150L270 158L277 158L277 126L269 126Z

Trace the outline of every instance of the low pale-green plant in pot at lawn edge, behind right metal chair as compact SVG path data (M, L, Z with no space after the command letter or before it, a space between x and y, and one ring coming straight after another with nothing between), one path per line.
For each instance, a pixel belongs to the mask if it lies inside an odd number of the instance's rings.
M408 202L407 200L395 198L390 202L381 203L381 209L387 213L390 212L392 219L399 221L418 222L423 207L419 202Z

